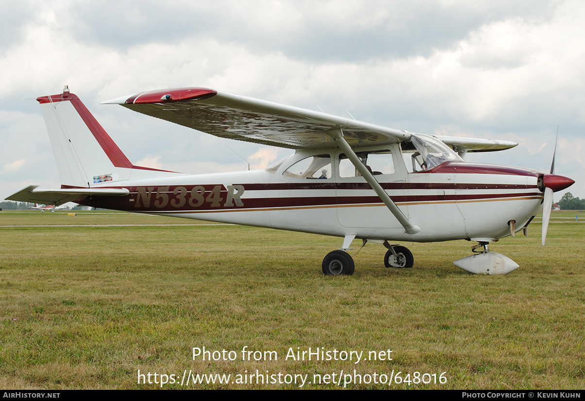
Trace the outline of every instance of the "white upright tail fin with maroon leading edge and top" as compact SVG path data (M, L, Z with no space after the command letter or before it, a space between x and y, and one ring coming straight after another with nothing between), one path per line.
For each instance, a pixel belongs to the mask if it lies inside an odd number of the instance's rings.
M81 100L62 94L37 98L43 111L62 187L92 187L109 181L177 173L134 166ZM137 171L138 170L138 171Z

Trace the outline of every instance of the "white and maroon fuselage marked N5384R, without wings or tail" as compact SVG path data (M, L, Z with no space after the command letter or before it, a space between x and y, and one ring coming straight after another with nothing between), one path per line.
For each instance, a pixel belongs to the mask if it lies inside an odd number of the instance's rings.
M541 208L542 173L535 170L450 161L416 171L407 167L400 144L356 153L370 156L374 177L408 220L421 228L418 235L405 233L364 177L345 162L343 152L332 148L298 150L264 170L106 181L92 187L123 187L130 193L79 202L337 237L413 242L494 241L510 235L510 221L515 231L521 230Z

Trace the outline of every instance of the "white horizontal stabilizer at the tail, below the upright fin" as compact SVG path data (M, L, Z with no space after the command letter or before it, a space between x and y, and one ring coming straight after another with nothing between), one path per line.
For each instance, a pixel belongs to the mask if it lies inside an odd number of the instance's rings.
M37 187L39 184L31 184L7 197L6 200L59 206L88 196L125 196L130 193L126 188L37 189Z

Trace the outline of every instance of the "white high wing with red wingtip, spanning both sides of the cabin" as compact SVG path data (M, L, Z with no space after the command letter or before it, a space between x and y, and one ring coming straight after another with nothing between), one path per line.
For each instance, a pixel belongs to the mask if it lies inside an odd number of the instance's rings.
M343 131L352 148L397 143L410 133L307 109L285 106L208 88L140 92L102 102L121 104L198 131L281 148L337 148L331 133ZM510 141L438 137L457 152L502 150Z

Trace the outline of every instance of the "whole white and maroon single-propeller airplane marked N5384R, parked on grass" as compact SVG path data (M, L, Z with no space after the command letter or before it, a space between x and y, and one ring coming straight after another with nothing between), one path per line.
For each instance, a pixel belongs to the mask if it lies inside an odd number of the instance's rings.
M37 101L62 185L30 185L7 199L343 237L341 248L325 256L325 275L354 272L345 251L356 238L385 245L384 265L393 268L414 263L395 242L477 241L475 255L454 263L473 273L508 273L518 265L490 252L488 243L526 229L544 207L544 245L552 193L574 182L552 169L543 174L460 157L515 142L422 135L207 88L104 102L223 138L295 149L264 170L176 173L133 165L67 87Z

